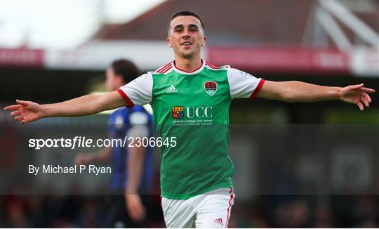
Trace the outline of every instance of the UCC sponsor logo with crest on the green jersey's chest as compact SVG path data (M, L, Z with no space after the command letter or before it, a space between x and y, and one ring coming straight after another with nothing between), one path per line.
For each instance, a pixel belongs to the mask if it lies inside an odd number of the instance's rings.
M182 107L177 106L172 109L174 119L192 118L211 118L213 115L213 107Z

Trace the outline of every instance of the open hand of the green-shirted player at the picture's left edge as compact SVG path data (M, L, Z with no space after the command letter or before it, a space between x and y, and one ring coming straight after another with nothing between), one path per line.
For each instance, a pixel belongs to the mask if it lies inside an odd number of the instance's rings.
M31 101L16 100L16 105L5 107L4 110L12 110L11 116L15 121L21 121L22 124L34 122L41 119L41 105Z

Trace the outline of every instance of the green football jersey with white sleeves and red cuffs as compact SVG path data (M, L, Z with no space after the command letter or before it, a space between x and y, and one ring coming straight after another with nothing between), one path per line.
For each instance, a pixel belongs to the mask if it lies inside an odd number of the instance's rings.
M254 98L264 80L201 60L185 72L175 61L147 72L118 91L128 105L150 103L161 147L161 195L188 199L233 186L228 154L233 98Z

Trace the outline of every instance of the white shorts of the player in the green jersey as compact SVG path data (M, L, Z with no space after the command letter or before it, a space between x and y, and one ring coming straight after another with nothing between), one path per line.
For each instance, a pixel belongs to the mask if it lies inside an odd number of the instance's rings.
M167 228L227 228L234 204L233 188L220 188L189 199L162 197Z

